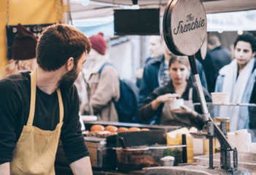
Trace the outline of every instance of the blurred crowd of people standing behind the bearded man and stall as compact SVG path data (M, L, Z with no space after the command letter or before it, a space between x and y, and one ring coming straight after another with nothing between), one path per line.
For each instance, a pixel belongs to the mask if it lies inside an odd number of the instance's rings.
M187 56L173 55L162 36L150 36L150 58L136 72L136 84L120 79L108 55L107 42L102 33L89 37L91 52L86 59L88 68L80 72L75 82L80 97L80 114L96 115L98 120L150 125L180 125L203 127L202 110ZM239 35L234 52L222 47L217 36L208 36L206 58L196 59L206 102L211 93L230 93L234 104L256 104L256 39L252 34ZM12 46L12 60L3 77L20 71L34 70L37 39L21 25ZM26 53L23 54L24 50ZM233 56L231 56L233 55ZM180 109L171 109L170 102L182 98ZM178 103L178 102L177 102ZM227 114L226 114L227 113ZM230 117L230 131L256 128L256 120L248 107L222 106L214 116Z

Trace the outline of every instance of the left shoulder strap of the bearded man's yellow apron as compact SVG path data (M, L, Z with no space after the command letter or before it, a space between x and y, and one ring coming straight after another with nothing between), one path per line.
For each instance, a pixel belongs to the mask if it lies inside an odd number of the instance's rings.
M33 125L34 121L34 108L36 106L36 91L37 91L37 69L30 74L31 77L31 99L30 99L30 111L29 111L29 120L26 125Z

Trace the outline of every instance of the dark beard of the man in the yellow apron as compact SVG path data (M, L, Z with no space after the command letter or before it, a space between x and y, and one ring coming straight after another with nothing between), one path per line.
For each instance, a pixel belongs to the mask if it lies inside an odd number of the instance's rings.
M77 66L75 65L71 71L68 71L64 74L63 77L58 82L59 88L71 88L75 82L75 79L78 78Z

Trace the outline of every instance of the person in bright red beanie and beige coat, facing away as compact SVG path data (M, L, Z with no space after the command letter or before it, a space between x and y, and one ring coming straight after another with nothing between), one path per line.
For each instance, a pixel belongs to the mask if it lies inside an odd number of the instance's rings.
M113 103L113 100L118 101L120 97L118 73L106 54L107 42L103 39L103 34L99 33L89 39L91 52L87 59L92 63L89 69L83 70L91 89L89 101L98 120L118 122L118 114Z

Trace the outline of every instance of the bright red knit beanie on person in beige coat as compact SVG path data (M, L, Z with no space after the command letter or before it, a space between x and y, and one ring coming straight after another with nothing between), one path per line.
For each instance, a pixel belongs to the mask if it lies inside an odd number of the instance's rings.
M91 48L94 50L97 50L102 55L105 55L106 48L107 48L107 42L103 39L103 34L99 32L97 35L93 35L89 37L91 42Z

